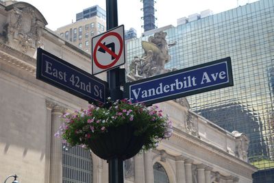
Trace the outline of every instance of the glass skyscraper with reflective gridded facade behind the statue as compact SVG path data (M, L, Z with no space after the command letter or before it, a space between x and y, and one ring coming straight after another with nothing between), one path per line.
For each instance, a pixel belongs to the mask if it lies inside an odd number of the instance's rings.
M157 30L155 30L157 32ZM187 97L191 110L249 136L254 182L274 182L274 1L260 0L165 29L171 61L184 69L231 57L234 86ZM142 36L127 42L127 62L142 56ZM129 65L129 64L128 64Z

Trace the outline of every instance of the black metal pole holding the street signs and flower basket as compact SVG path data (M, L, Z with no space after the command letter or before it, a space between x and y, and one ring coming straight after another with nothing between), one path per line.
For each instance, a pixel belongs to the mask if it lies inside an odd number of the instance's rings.
M118 26L117 0L105 0L107 13L107 30ZM119 68L108 71L108 85L112 100L122 99L123 92L120 90L121 80L119 78L121 70ZM123 183L123 160L112 158L108 160L108 182Z

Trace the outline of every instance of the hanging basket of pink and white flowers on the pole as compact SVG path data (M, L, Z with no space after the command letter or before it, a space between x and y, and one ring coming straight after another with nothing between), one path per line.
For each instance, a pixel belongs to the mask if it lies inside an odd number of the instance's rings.
M140 149L155 148L172 132L171 121L163 116L158 106L147 108L127 99L65 113L62 121L56 136L69 146L91 149L105 160L132 158Z

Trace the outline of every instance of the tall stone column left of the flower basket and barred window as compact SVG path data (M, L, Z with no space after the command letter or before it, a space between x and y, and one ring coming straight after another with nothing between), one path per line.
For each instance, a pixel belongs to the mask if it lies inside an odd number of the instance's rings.
M51 110L51 158L49 182L62 183L62 140L54 136L61 125L60 115L66 109L54 105Z

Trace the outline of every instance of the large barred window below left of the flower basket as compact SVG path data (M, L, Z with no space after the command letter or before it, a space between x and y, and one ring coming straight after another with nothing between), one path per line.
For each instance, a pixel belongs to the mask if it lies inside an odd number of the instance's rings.
M63 149L62 182L92 182L92 158L82 147Z

